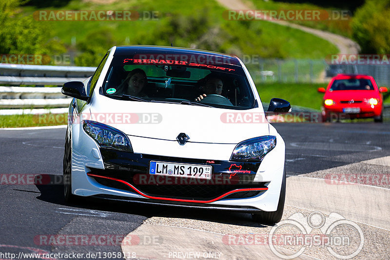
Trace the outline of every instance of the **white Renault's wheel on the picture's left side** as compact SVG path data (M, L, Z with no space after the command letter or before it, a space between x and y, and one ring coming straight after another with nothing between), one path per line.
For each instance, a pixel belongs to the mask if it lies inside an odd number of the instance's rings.
M71 135L66 129L65 152L63 159L63 184L65 202L74 202L75 195L72 194L72 144Z

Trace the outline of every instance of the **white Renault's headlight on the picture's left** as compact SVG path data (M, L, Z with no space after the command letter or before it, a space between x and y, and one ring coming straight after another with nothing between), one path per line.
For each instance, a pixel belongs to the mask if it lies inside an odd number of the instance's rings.
M89 136L95 139L100 147L133 152L130 140L126 134L113 127L84 120L82 128Z

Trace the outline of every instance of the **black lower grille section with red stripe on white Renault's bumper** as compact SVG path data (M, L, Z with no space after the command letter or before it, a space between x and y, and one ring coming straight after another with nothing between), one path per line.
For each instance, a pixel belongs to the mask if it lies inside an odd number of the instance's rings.
M256 163L208 161L100 149L104 169L89 168L97 183L163 201L211 203L221 199L251 198L268 189L268 182L255 182ZM151 161L213 167L210 180L149 174Z

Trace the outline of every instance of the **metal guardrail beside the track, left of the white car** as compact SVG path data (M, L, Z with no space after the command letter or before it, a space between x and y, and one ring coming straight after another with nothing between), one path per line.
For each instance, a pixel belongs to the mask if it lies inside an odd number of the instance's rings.
M83 81L95 67L0 64L0 114L64 113L71 98L61 94L68 81ZM16 87L30 85L35 87ZM42 109L45 108L45 109Z

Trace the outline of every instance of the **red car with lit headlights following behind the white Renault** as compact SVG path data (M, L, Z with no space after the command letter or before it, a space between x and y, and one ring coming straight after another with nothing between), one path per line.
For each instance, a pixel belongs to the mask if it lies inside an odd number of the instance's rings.
M373 117L375 122L383 121L383 95L386 87L376 85L372 76L338 74L331 79L322 106L322 121L332 119Z

